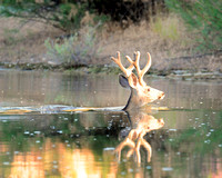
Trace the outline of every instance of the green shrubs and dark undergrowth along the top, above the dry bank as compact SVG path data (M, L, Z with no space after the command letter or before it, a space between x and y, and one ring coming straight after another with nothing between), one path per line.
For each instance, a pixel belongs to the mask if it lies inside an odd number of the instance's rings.
M164 0L152 2L124 0L85 0L85 1L56 1L56 0L3 0L0 1L0 16L18 17L50 23L63 31L72 31L81 27L85 12L97 14L101 22L118 21L121 27L128 27L130 21L140 22L164 11ZM114 7L114 10L113 10Z

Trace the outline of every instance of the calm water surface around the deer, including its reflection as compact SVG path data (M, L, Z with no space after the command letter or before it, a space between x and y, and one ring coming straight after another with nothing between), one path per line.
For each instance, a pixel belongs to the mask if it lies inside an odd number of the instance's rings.
M145 80L169 109L64 111L130 92L112 75L0 70L0 177L222 177L222 82Z

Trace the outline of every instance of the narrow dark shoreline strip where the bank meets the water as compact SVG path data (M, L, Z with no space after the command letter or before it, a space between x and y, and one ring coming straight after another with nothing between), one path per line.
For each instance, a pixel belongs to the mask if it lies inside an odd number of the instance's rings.
M38 63L12 63L12 62L0 62L0 69L14 69L14 70L46 70L46 71L59 71L59 72L75 72L75 73L84 73L84 75L119 75L121 70L118 67L111 65L50 65L47 62L38 62ZM209 70L199 70L195 71L193 69L150 69L147 76L151 77L164 77L167 79L178 79L178 80L214 80L222 81L222 72L221 71L209 71Z

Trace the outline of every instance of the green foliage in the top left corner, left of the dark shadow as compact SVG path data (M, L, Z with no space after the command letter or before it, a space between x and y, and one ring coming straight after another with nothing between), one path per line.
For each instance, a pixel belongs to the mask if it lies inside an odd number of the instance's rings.
M13 0L9 0L0 6L0 16L31 19L52 24L64 31L71 31L80 28L85 10L85 3L81 6L77 3L60 3L56 6L51 1L36 3L32 0L27 0L17 3Z

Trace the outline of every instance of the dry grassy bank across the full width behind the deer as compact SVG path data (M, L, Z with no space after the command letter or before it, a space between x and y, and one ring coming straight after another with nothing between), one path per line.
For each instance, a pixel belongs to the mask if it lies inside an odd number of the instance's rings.
M84 20L89 22L92 18L88 13ZM69 36L57 28L36 21L24 22L17 18L0 18L0 62L8 68L26 70L85 70L87 68L90 72L90 70L107 70L104 66L113 67L110 57L115 56L117 51L121 52L124 62L127 61L124 56L133 57L133 52L139 50L141 66L145 63L145 53L149 51L152 56L152 70L158 73L169 73L174 70L188 70L193 73L222 71L222 52L196 51L195 34L189 31L174 13L168 16L160 13L150 21L142 20L137 24L129 22L129 27L124 29L117 22L107 21L93 31L93 39L89 36L92 34L90 29L98 23L88 26L88 22L82 23L77 31L75 41L71 43L68 41L68 48L64 44ZM51 41L48 47L47 40ZM90 49L87 49L89 47ZM65 50L70 49L73 51L67 56ZM85 55L85 49L92 52ZM77 55L79 61L73 63L71 57Z

